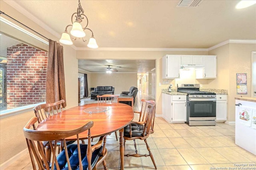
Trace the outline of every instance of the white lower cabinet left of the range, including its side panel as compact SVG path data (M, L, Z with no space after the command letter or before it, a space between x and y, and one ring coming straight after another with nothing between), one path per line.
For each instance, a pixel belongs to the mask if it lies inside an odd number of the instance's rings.
M168 123L184 123L186 121L186 95L162 93L162 104L162 116Z

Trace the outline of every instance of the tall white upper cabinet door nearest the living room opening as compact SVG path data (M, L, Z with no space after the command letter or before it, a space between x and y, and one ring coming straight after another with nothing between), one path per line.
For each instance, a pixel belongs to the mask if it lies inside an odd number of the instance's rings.
M167 56L167 78L180 77L180 55Z

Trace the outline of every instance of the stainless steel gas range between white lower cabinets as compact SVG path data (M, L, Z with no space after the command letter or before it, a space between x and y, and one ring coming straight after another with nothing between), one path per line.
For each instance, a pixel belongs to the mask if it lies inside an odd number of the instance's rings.
M190 126L216 125L216 94L199 91L200 84L177 84L187 94L187 122Z

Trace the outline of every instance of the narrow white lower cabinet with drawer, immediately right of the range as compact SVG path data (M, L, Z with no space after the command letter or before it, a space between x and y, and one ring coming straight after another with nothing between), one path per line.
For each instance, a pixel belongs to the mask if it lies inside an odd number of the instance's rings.
M216 95L216 121L227 120L227 95Z

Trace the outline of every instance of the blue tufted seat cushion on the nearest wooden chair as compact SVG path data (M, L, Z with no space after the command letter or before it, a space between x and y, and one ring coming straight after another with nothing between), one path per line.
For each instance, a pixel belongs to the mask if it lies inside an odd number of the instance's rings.
M103 147L100 147L99 149L96 149L94 152L92 152L92 167L94 167L97 160L99 159L100 153L102 152L102 148ZM68 149L68 157L70 160L70 165L72 170L79 170L77 145L70 144L68 145L67 149ZM80 144L80 150L81 150L83 169L86 170L88 167L88 161L86 156L87 145ZM61 170L68 170L68 163L66 160L65 150L62 150L62 152L60 152L60 154L57 157L57 160L59 162L59 166ZM54 170L56 170L55 165L54 165Z

